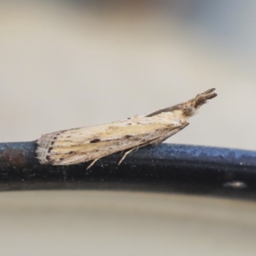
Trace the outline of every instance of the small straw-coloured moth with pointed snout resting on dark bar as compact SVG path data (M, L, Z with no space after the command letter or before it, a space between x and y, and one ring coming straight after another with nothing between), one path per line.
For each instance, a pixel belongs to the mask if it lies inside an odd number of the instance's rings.
M188 119L207 100L217 96L214 90L207 90L191 100L146 115L44 134L36 141L38 160L41 164L53 165L92 161L88 169L104 156L127 150L120 164L132 150L157 145L188 126Z

